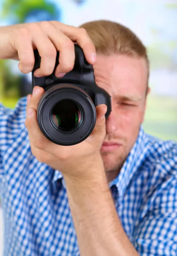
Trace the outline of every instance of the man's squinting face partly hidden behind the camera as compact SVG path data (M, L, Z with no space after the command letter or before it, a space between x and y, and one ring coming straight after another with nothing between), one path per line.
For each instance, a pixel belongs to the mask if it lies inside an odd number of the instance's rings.
M110 182L120 172L144 119L146 61L127 55L97 54L94 76L96 84L111 96L112 111L106 119L106 137L100 150Z

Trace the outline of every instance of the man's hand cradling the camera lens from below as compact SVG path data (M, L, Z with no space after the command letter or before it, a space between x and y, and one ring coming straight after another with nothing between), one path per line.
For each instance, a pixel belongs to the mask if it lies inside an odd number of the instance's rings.
M39 90L37 94L34 94ZM40 131L37 122L37 105L44 89L35 86L33 95L29 94L29 104L26 111L32 109L31 116L26 117L26 128L29 133L29 140L32 154L42 163L46 163L53 169L60 170L64 176L70 178L87 178L89 175L82 172L83 169L89 169L92 163L94 164L100 159L100 148L106 136L105 113L107 106L101 104L96 107L97 121L91 135L83 142L72 146L61 146L52 143Z

